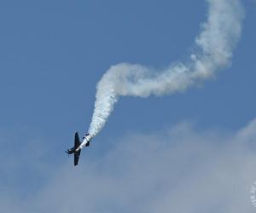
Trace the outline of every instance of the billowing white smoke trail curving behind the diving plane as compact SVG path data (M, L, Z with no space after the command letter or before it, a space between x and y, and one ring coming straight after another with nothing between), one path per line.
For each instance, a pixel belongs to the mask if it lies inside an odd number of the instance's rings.
M162 71L146 66L121 63L111 66L97 84L95 111L90 124L94 137L106 123L120 95L148 97L169 95L212 78L230 65L232 51L241 35L243 10L239 0L207 0L207 21L195 38L198 51L188 63L177 63Z

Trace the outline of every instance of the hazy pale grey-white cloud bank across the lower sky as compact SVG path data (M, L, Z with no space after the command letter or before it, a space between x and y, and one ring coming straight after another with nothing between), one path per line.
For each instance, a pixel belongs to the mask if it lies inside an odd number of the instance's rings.
M127 135L96 161L82 156L78 168L51 170L44 187L26 198L1 184L0 204L3 212L20 213L253 212L255 138L256 120L235 132L183 123L157 134Z

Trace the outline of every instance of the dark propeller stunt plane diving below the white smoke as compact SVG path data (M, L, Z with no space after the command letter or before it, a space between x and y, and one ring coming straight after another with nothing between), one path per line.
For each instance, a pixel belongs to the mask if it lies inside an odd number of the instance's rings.
M67 149L65 153L68 155L73 154L73 164L74 166L79 164L79 157L81 153L81 149L83 147L89 147L90 146L90 134L87 133L83 137L83 141L81 142L79 139L79 133L76 132L74 136L74 146L72 148Z

